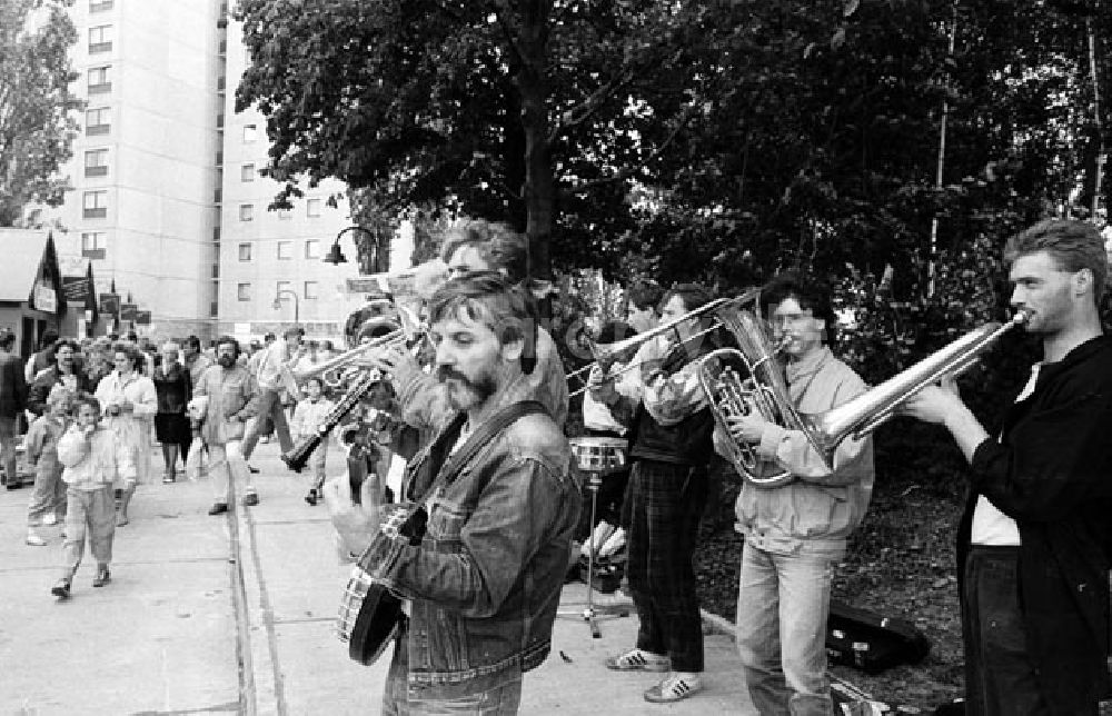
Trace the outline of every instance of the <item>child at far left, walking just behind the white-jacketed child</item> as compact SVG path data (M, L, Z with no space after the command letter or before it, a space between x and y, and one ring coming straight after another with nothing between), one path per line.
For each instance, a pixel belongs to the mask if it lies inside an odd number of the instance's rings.
M66 434L72 399L69 390L52 390L47 397L47 411L27 430L27 460L34 466L34 491L27 506L27 544L32 547L47 544L37 527L56 525L66 517L66 483L62 464L58 461L58 440Z

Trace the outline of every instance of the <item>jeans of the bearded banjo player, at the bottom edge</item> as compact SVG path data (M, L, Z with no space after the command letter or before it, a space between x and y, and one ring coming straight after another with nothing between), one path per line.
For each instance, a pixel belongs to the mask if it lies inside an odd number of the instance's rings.
M415 698L409 695L409 662L405 632L394 643L394 660L383 693L383 716L514 716L522 703L522 679L458 698Z

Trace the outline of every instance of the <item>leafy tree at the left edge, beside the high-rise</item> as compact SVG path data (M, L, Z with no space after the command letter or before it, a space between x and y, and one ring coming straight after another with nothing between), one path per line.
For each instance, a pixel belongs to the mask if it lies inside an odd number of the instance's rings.
M28 203L58 206L69 188L58 170L77 133L67 52L77 30L72 0L0 0L0 226Z

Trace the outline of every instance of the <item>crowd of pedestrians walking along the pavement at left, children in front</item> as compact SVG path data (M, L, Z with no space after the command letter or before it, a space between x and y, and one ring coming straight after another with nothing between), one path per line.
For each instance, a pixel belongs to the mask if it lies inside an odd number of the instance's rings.
M222 337L207 349L196 336L156 347L133 332L75 340L52 330L26 359L14 346L14 334L0 330L2 484L16 490L33 476L28 546L49 545L44 528L61 526L62 575L51 588L58 597L70 595L86 541L98 565L93 586L109 583L116 528L128 524L137 486L158 479L156 447L167 485L186 474L192 448L212 479L209 514L227 511L234 478L244 504L257 505L250 476L258 470L247 457L276 429L282 448L291 447L286 411L302 398L282 388L280 369L336 352L328 341L306 344L299 328L242 346ZM191 421L191 404L202 420Z

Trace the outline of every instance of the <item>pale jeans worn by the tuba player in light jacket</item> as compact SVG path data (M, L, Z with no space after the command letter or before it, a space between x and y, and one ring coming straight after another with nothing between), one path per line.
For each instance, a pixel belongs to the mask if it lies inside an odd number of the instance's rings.
M748 696L742 713L834 713L826 617L836 558L806 544L791 555L745 544L737 597L737 650Z

